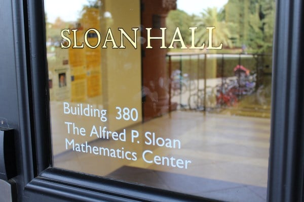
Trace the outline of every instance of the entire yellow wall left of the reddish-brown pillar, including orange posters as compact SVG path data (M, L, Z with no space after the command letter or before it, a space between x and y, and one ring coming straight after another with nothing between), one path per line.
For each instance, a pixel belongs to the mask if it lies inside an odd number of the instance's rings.
M107 43L107 48L102 48L102 45L105 40L105 34L108 28L111 28L113 33L113 38L115 38L118 46L121 45L121 32L118 28L123 28L128 35L133 39L134 32L132 28L138 28L140 26L140 1L102 1L102 6L99 8L99 12L96 12L96 9L88 9L90 12L88 15L94 13L99 15L100 25L96 25L94 23L88 23L84 19L81 21L81 25L83 25L83 30L79 31L78 39L79 44L83 41L83 32L89 28L96 28L100 31L101 34L101 43L99 47L96 49L89 49L88 47L80 48L80 49L61 49L58 47L60 53L58 53L56 57L56 61L58 63L62 63L62 60L59 56L62 55L62 52L66 52L66 56L69 57L69 64L67 66L67 78L69 82L67 85L72 90L72 96L66 99L57 99L54 97L52 99L51 105L51 124L52 124L52 142L53 142L53 155L62 153L65 151L65 138L74 139L75 142L83 143L85 141L93 141L96 139L96 136L90 137L90 131L93 125L97 128L98 126L106 126L109 131L118 131L128 126L134 125L136 123L140 123L142 121L142 109L141 109L141 50L140 50L140 31L137 31L137 49L135 49L130 42L126 38L124 38L124 45L126 48L117 48L113 49L111 47L111 43ZM110 13L110 18L108 17ZM107 17L106 17L107 16ZM90 17L92 18L92 17ZM94 16L93 16L94 18ZM81 16L80 18L81 19ZM78 19L78 20L79 20ZM75 19L77 22L77 19ZM92 26L92 27L90 27ZM62 27L61 29L66 29L67 27ZM71 27L72 28L72 27ZM60 30L57 32L60 35ZM70 35L72 38L72 34ZM92 40L92 39L90 39ZM94 44L94 41L92 42ZM97 50L99 48L99 50ZM72 53L81 53L81 54L72 54ZM69 54L67 54L69 53ZM54 55L54 54L53 54ZM90 56L90 57L88 57ZM97 57L99 57L98 60ZM49 70L53 71L52 63L49 61ZM60 59L60 60L59 60ZM82 71L78 71L77 67L79 65L75 65L73 60L81 60L83 64L80 65L82 67ZM94 64L94 65L92 65ZM58 68L59 65L56 65ZM84 69L83 69L84 68ZM96 80L92 80L92 70L96 70L98 68L97 74L99 82ZM90 74L88 74L88 72ZM60 72L59 72L60 73ZM74 81L70 81L70 74L74 76ZM84 75L83 78L76 77L77 75ZM95 75L95 76L96 76ZM58 75L53 76L58 79ZM95 77L94 77L95 78ZM75 81L81 79L83 81L82 85L84 90L75 90L77 86L75 86ZM91 80L90 80L91 79ZM54 80L54 79L53 79ZM87 89L91 82L91 87L94 87L92 93L89 93L91 88ZM71 84L72 83L72 84ZM87 85L88 83L88 85ZM53 82L54 88L53 94L59 92L57 88L58 82ZM102 88L99 90L99 86ZM68 89L70 89L68 88ZM75 89L74 89L75 88ZM74 90L73 90L74 89ZM96 90L95 90L96 89ZM87 93L88 91L88 93ZM97 92L97 93L94 93ZM68 93L64 93L65 95ZM70 107L75 107L77 105L83 104L84 106L92 105L94 109L105 109L107 110L107 122L100 121L99 118L96 117L86 117L86 116L75 116L71 114L63 113L63 100L69 103ZM116 120L117 112L116 107L120 108L135 108L138 111L138 120L137 121L125 121L125 120ZM65 122L75 123L75 126L78 128L85 128L86 135L78 135L67 133L67 125Z

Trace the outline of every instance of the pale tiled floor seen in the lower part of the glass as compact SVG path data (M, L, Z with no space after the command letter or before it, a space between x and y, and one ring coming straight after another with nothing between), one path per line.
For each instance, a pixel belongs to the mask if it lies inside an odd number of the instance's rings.
M181 149L113 140L94 140L90 144L114 148L123 146L138 154L149 149L154 155L191 160L191 165L187 169L178 169L147 164L140 155L137 161L132 162L70 150L56 154L54 165L225 201L266 200L270 119L176 111L131 126L131 129L177 138L182 143ZM56 135L60 134L53 133L55 148L56 140L60 139ZM62 141L58 145L60 143Z

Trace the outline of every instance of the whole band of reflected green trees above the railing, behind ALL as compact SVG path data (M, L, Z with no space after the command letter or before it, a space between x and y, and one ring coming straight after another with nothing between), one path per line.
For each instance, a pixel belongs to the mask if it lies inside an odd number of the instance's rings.
M191 43L189 27L196 30L196 45L208 41L207 26L214 26L214 44L226 47L244 47L254 53L272 51L275 18L275 0L229 0L221 11L204 10L200 16L184 11L171 11L167 17L167 39L170 41L179 27L186 44Z

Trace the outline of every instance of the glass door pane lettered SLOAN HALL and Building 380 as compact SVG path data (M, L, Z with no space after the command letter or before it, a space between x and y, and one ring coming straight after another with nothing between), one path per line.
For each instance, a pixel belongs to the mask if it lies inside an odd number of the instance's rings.
M265 201L274 16L272 0L45 0L53 166Z

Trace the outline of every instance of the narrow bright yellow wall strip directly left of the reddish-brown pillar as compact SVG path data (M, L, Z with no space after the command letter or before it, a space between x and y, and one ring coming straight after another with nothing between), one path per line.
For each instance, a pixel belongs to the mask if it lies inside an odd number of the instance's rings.
M110 27L113 37L120 46L120 34L118 28L123 28L133 39L132 28L140 25L140 2L134 1L111 1L103 2L102 13L109 12L111 18L101 20L101 35L105 37ZM106 14L108 15L108 13ZM105 109L108 110L108 127L110 130L119 130L124 127L141 122L141 51L140 31L137 31L137 49L124 39L125 49L111 48L112 43L107 43L107 48L101 50L102 55L102 86ZM103 43L103 41L101 42ZM138 120L116 120L116 107L136 108Z

